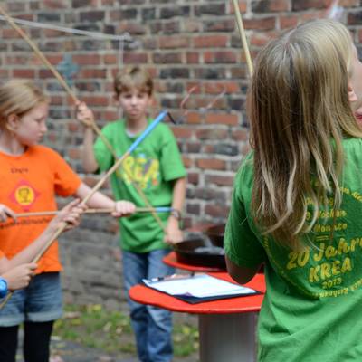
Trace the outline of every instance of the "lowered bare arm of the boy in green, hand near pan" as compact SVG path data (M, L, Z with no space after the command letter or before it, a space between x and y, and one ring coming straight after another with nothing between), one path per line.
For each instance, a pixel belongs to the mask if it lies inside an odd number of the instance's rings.
M176 213L171 213L168 217L165 242L166 243L180 243L183 240L183 233L179 227L179 216L185 202L186 195L186 178L177 178L174 183L172 208Z

